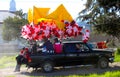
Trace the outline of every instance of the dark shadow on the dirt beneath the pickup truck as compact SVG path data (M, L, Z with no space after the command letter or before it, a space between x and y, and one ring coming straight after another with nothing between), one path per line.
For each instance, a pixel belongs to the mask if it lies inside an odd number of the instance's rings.
M104 74L108 71L120 71L120 66L110 66L106 69L94 68L93 66L74 66L65 68L56 68L51 73L44 73L41 69L37 71L32 68L28 71L22 71L20 74L26 76L69 76L69 75L88 75L88 74Z

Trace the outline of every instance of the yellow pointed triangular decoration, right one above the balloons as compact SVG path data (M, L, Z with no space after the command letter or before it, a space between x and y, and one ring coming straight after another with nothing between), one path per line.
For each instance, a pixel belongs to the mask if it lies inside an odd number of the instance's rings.
M61 4L55 11L53 11L51 14L46 16L48 19L56 20L56 24L60 29L64 30L65 25L61 20L67 20L71 22L73 20L72 16L68 13L68 11L65 9L63 4Z

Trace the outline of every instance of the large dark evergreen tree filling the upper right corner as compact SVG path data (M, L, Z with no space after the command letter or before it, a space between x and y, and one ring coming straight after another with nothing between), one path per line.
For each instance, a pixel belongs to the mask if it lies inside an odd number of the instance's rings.
M97 32L120 39L120 0L87 0L78 18L94 25Z

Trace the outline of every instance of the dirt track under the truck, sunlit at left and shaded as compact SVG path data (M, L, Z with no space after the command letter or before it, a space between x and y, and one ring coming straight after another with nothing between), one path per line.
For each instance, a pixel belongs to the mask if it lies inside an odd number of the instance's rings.
M0 69L0 77L38 77L38 76L69 76L69 75L87 75L92 73L102 74L107 71L120 71L120 62L109 64L107 69L94 68L93 66L72 66L72 67L57 67L51 73L43 73L40 69L37 71L32 68L21 68L20 72L14 72L14 67Z

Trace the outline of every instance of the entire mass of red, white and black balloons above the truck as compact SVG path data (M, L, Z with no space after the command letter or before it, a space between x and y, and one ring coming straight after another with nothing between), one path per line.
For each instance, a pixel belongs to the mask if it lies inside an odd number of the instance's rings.
M58 28L54 21L41 21L39 24L27 24L22 27L21 36L28 40L42 40L44 37L50 38L52 36L58 38L76 37L83 35L83 41L87 42L89 39L89 30L83 34L82 27L79 27L75 21L68 22L61 20L64 23L64 30Z

